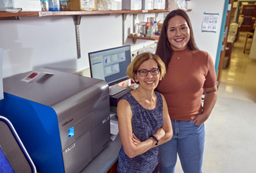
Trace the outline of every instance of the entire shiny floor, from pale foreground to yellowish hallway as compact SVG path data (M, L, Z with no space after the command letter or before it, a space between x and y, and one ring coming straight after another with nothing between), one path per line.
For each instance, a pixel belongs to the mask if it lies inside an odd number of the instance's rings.
M243 53L245 37L241 33L234 44L216 106L205 122L203 172L256 172L256 59L248 58L249 50ZM183 172L180 163L175 172Z

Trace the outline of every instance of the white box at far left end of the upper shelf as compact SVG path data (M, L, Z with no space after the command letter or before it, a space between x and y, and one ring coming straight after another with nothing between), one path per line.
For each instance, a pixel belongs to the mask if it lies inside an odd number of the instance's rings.
M22 12L41 11L40 0L9 0L0 3L0 8L22 8Z

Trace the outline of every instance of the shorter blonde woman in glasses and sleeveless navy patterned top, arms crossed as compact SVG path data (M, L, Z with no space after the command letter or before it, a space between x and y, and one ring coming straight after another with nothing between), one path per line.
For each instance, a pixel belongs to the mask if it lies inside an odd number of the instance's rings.
M166 68L157 55L142 53L130 63L126 74L139 86L117 104L122 142L117 172L151 173L158 165L158 145L173 135L166 101L154 92Z

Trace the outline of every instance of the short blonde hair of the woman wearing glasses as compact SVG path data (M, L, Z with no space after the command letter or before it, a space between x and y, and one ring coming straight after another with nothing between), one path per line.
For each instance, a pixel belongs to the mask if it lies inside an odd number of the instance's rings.
M128 78L135 81L135 73L137 70L139 70L141 64L149 59L153 59L155 62L157 62L158 68L160 68L160 79L164 78L164 75L166 74L166 65L164 65L164 62L162 62L159 56L152 53L142 53L134 58L134 60L127 67L126 74Z

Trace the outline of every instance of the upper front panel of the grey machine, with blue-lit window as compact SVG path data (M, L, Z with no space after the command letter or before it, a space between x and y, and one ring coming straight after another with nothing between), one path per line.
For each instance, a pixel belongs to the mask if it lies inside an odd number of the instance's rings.
M95 126L101 126L104 123L110 126L110 121L105 120L109 119L109 111L109 96L103 96L59 122L62 151L76 142L76 138L80 138ZM107 133L110 139L110 130Z

